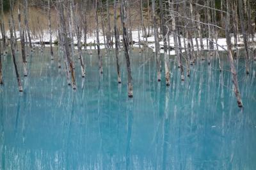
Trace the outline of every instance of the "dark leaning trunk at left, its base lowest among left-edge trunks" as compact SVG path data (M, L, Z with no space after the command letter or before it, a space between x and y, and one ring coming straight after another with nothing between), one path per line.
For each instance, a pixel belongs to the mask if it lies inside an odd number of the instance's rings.
M12 50L12 59L13 59L13 65L15 68L15 73L16 73L16 77L17 77L17 82L18 82L18 86L19 86L19 91L22 92L22 84L20 81L20 75L19 75L19 71L17 68L17 63L16 63L16 59L15 59L15 49L14 49L14 38L13 38L13 28L9 19L9 26L10 26L10 42L11 42L11 50Z

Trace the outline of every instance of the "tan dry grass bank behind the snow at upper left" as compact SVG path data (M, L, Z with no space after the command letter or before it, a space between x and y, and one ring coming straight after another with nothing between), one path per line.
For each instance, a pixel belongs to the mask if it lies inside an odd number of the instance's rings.
M127 10L128 11L128 10ZM92 33L93 30L95 30L95 10L92 8L89 12L87 12L87 20L88 20L88 33ZM113 30L113 25L114 25L114 11L113 8L109 8L109 13L110 13L110 25L111 29ZM131 7L131 13L132 15L129 16L129 11L128 11L128 24L129 24L129 19L131 19L132 23L132 28L136 29L137 27L141 27L141 22L140 22L140 5L139 4L133 4ZM8 27L8 19L9 19L10 13L6 13L4 15L4 23L6 30L9 29ZM24 13L21 12L22 15L22 26L24 25ZM100 15L100 12L99 12ZM118 27L121 27L120 23L120 14L118 10ZM19 29L19 22L18 22L18 6L17 4L14 6L13 9L13 17L15 20L15 28L18 30ZM29 17L29 28L31 29L31 32L33 35L36 35L40 33L42 30L47 30L49 29L48 27L48 17L47 17L47 8L42 9L42 8L35 8L35 7L30 7L28 10L28 17ZM76 17L76 15L75 15ZM105 22L105 29L107 30L107 12L104 11L104 22ZM51 21L52 21L52 29L56 30L58 27L58 13L54 8L51 10ZM101 25L101 19L99 18L100 22L100 28L102 27ZM148 24L148 17L147 13L144 13L144 22L145 26Z

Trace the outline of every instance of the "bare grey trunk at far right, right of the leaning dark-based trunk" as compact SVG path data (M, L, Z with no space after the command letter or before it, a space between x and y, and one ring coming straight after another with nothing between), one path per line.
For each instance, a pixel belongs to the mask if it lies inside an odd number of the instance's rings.
M241 25L241 31L243 34L243 40L244 40L244 48L245 48L245 60L246 60L246 65L245 65L245 69L246 69L246 74L248 74L249 71L249 52L248 52L248 44L247 44L247 34L246 31L244 29L244 8L243 8L243 0L238 0L239 3L239 14L240 14L240 25Z

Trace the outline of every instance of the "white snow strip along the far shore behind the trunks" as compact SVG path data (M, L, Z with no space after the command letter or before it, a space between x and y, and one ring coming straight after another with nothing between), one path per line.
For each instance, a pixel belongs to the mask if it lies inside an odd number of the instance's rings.
M17 35L17 38L18 38L18 41L19 41L19 38L20 38L19 31L16 31L16 35ZM42 42L50 42L49 31L43 31L41 33L41 35L43 35L42 38L41 38ZM99 35L100 35L99 36L99 41L100 41L100 44L101 44L100 45L100 49L104 49L105 45L102 45L102 44L104 44L104 36L102 36L102 32L101 31L99 32ZM6 36L10 38L10 31L6 31ZM1 38L1 35L0 35L0 38ZM184 38L181 37L180 39L181 39L182 47L184 47ZM31 42L32 43L40 43L41 40L40 40L39 33L33 34L31 32ZM122 35L120 35L120 40L122 40ZM132 31L132 40L135 42L135 44L133 46L134 47L139 47L138 31ZM146 42L146 38L142 36L142 31L140 31L140 40L141 40L141 42ZM56 41L58 41L57 32L56 31L52 31L52 42L56 42ZM147 46L150 49L155 51L155 43L154 43L155 38L154 38L154 35L148 37L147 41L148 41ZM232 36L231 41L232 41L232 43L234 43L234 36ZM249 41L252 42L252 38L249 38ZM84 43L83 37L81 39L81 42ZM76 36L74 36L74 43L75 44L77 43ZM91 44L95 44L96 43L96 35L95 35L95 33L87 35L87 43L91 43ZM200 46L200 39L199 38L198 38L198 43L199 43L199 46ZM217 43L218 43L218 50L227 50L226 38L219 38ZM159 42L159 44L160 44L161 47L163 47L163 41ZM204 44L204 49L207 49L207 39L206 38L203 38L203 44ZM239 35L237 44L238 45L243 45L243 36ZM193 45L194 45L195 50L197 50L196 49L196 40L195 40L195 38L193 38ZM170 35L170 46L174 47L173 35ZM115 47L115 45L114 45L114 47ZM87 49L90 49L90 47L87 47ZM95 49L95 47L93 46L92 49ZM214 40L214 49L217 49L217 45L216 45L215 40ZM164 50L161 49L160 52L163 53ZM170 54L174 55L175 54L175 50L171 50Z

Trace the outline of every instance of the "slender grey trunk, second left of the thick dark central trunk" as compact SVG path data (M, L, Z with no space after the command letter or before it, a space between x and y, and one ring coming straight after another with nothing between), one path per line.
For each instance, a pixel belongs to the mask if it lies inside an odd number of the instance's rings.
M100 52L100 40L99 40L99 19L98 19L98 0L95 0L95 19L96 19L96 36L97 36L97 50L99 58L99 72L103 73L102 68L102 54ZM103 27L102 27L103 28Z

